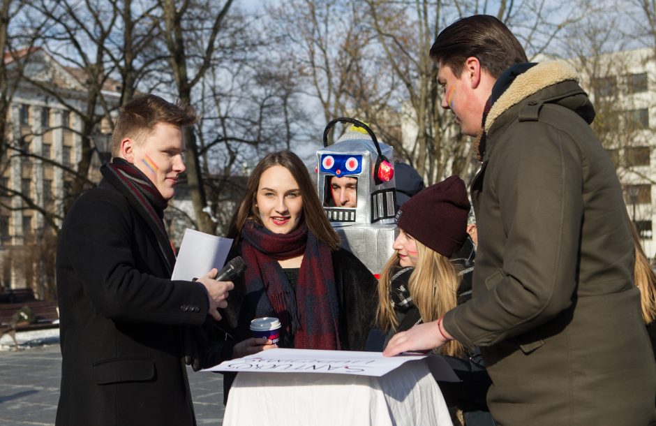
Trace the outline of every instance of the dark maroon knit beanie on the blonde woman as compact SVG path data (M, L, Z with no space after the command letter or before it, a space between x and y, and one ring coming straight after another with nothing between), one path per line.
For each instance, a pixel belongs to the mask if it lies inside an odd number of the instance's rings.
M415 240L450 258L467 238L469 210L465 182L451 176L406 201L396 213L396 223Z

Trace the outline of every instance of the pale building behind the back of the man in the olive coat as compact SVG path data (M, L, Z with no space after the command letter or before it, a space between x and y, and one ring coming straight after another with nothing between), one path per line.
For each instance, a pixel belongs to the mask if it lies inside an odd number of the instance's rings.
M656 256L656 60L651 48L573 59L597 116L592 128L611 156L650 260Z

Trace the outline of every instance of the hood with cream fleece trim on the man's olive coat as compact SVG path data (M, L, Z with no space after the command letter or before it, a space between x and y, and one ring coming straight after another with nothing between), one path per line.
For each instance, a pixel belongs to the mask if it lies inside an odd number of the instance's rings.
M564 85L562 88L557 86L559 83L565 82L569 84ZM475 141L475 151L479 159L484 154L479 150L484 151L485 135L490 131L493 124L504 112L527 100L527 98L542 103L562 103L575 110L583 119L586 119L586 122L591 123L594 119L594 109L578 82L579 75L576 70L565 61L548 61L535 65L517 64L500 75L489 101L489 103L491 102L491 108L489 108L489 112L484 118L483 129ZM504 89L504 87L506 88ZM576 87L576 89L572 90L573 87ZM496 94L496 98L495 92L500 92ZM563 101L569 96L581 95L585 96L585 100L577 99L570 103Z

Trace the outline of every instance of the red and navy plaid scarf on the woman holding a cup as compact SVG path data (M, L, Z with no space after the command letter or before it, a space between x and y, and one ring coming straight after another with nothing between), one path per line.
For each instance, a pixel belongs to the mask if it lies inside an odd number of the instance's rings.
M288 234L274 234L253 221L241 230L241 256L247 298L255 314L276 316L283 341L295 348L339 349L337 288L330 248L305 223ZM278 260L303 254L296 293ZM287 335L287 338L285 338Z

